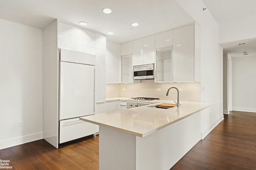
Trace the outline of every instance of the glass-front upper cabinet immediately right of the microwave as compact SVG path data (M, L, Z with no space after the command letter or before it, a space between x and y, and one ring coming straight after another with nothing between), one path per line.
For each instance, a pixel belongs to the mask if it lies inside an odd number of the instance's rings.
M156 49L155 82L173 82L172 46Z

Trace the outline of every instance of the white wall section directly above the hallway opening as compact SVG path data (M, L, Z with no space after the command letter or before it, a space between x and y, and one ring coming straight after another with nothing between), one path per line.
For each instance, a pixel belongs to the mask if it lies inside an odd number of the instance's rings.
M219 25L219 43L256 37L256 13L240 20Z

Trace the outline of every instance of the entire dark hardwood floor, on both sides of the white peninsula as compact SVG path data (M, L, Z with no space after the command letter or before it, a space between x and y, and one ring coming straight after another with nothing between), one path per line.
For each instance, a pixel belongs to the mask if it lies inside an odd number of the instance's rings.
M256 170L256 113L232 111L171 170ZM99 136L56 149L44 140L0 150L14 170L98 170Z

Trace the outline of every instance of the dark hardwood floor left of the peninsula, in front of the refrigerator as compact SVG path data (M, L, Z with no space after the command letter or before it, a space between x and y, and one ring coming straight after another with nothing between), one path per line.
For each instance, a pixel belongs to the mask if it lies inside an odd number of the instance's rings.
M56 149L42 140L0 150L13 170L98 170L99 136Z

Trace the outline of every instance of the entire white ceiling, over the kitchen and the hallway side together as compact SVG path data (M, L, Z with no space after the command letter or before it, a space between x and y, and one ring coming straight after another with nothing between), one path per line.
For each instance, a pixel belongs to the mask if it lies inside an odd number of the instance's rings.
M202 0L218 24L242 19L256 12L256 0ZM104 14L103 8L111 8ZM0 18L43 29L58 18L106 35L110 41L122 43L165 31L194 20L175 0L0 0ZM130 23L138 22L138 27ZM238 46L238 43L246 42ZM256 54L256 41L241 40L220 44L224 53L241 56L244 51ZM247 56L249 56L247 55ZM242 55L244 56L244 55Z

